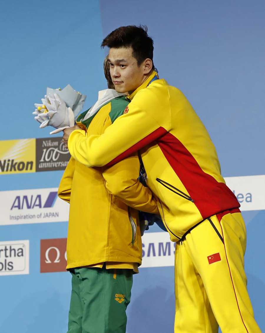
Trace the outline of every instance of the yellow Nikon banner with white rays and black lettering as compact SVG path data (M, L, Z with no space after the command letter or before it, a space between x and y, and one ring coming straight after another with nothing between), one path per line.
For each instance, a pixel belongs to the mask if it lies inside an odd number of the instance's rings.
M0 174L36 171L36 139L4 140L0 143Z

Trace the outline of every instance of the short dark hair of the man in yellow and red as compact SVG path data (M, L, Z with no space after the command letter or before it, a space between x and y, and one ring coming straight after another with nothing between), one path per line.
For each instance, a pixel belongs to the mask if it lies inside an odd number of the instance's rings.
M147 35L147 27L144 25L117 28L103 39L101 46L132 47L132 56L137 60L138 66L147 58L153 61L153 40Z

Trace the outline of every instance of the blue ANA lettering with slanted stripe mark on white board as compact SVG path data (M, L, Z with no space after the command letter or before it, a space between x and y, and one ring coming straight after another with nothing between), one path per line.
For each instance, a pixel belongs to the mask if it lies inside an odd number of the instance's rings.
M50 192L44 204L42 205L41 194L37 195L17 195L13 201L11 210L17 209L33 209L33 208L51 208L53 207L55 200L57 198L57 192Z

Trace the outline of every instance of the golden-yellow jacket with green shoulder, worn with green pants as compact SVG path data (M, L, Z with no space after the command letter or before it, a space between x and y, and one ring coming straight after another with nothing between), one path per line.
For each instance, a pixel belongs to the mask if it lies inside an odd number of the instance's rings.
M103 106L87 135L104 133L127 104L119 97ZM158 210L151 191L137 179L139 168L136 154L108 168L87 167L71 157L58 190L59 197L70 203L67 268L103 262L141 264L136 209Z

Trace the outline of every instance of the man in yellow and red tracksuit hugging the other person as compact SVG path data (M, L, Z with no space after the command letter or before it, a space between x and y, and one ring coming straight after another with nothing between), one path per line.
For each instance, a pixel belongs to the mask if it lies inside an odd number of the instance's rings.
M108 46L110 73L131 103L102 135L66 130L81 164L112 166L140 150L147 185L175 251L175 332L261 332L244 272L246 229L239 203L221 176L204 125L177 88L157 78L143 27L120 27Z

